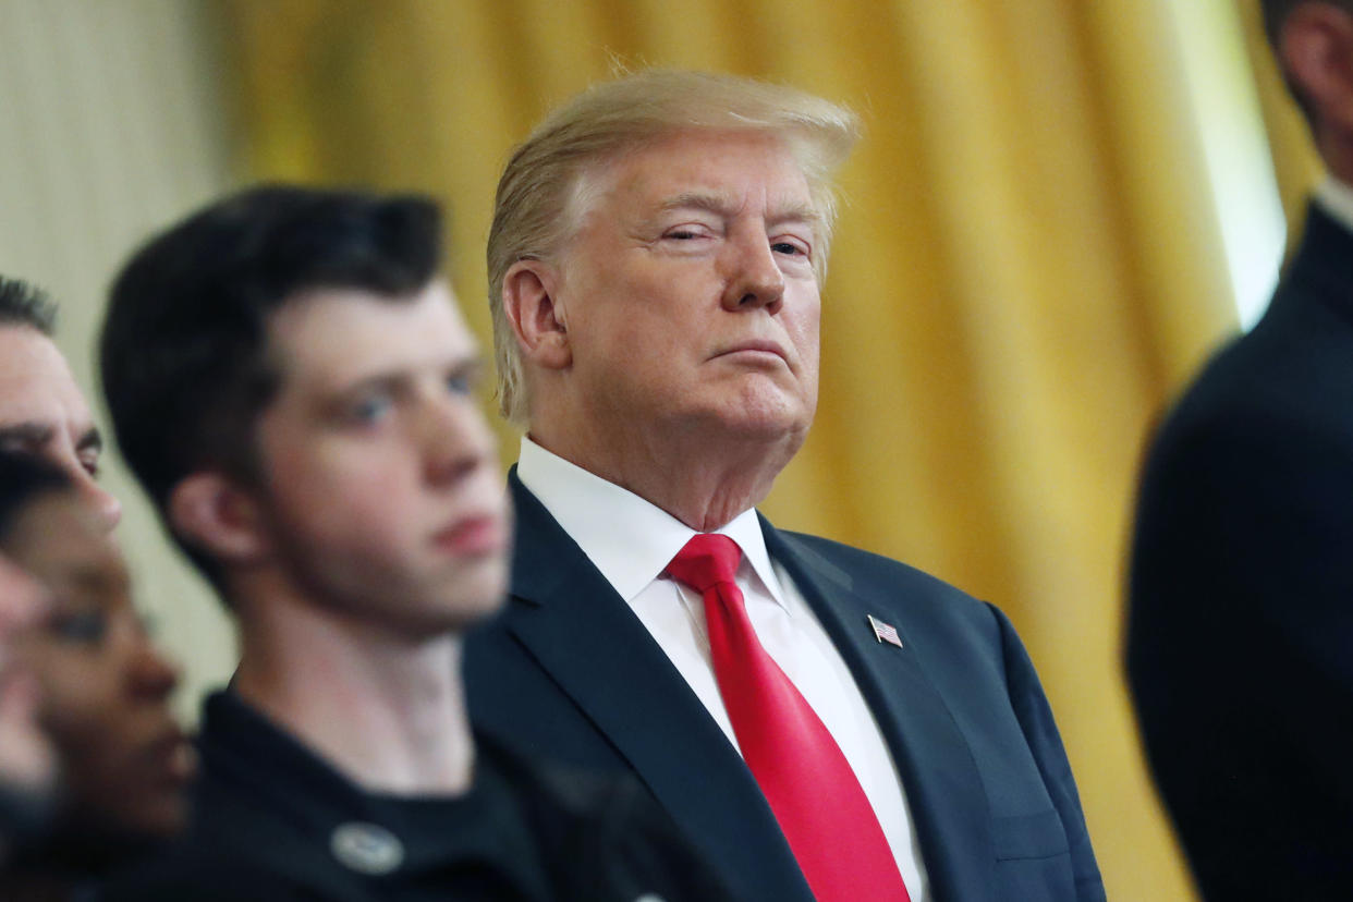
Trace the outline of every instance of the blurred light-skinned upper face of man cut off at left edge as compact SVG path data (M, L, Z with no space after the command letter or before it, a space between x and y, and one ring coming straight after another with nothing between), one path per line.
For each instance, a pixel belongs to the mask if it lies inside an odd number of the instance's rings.
M122 518L118 499L95 479L103 441L89 404L57 346L27 326L0 326L0 448L65 471L104 530Z

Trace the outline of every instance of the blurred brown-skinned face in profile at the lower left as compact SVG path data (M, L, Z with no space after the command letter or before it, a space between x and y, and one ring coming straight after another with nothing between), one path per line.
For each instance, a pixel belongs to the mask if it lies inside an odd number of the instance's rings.
M7 553L50 599L19 655L42 687L64 821L129 838L175 834L193 760L169 711L179 678L131 606L126 567L103 525L76 492L49 494L15 521Z

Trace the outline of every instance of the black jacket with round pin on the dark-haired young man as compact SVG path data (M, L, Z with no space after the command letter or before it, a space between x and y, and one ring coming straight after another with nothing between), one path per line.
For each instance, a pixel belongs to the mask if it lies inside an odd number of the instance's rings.
M724 899L635 783L488 741L455 798L364 792L230 692L208 699L188 838L106 899Z

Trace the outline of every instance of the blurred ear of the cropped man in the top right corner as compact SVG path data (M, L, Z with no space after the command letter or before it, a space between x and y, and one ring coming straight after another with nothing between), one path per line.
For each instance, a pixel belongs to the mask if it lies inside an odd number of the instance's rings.
M1353 134L1353 14L1331 3L1298 4L1283 23L1279 57L1316 127Z

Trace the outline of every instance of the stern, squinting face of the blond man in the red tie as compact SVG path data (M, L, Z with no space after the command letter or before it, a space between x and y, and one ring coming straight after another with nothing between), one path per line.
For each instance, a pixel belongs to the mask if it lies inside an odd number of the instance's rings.
M821 252L789 150L678 133L594 177L556 299L589 417L801 441L817 404Z

